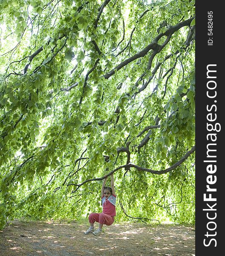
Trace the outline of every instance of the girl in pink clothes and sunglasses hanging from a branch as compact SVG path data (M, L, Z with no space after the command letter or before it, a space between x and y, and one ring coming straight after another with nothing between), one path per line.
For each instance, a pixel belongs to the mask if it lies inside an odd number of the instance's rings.
M114 189L114 177L113 174L111 174L111 187L106 187L106 180L107 177L105 177L102 188L101 188L101 201L102 201L102 212L101 213L95 213L92 212L89 215L89 229L84 233L85 235L88 235L92 233L95 236L99 236L102 232L103 225L110 226L114 222L114 216L115 216L115 189ZM99 226L97 230L94 230L94 223L98 222Z

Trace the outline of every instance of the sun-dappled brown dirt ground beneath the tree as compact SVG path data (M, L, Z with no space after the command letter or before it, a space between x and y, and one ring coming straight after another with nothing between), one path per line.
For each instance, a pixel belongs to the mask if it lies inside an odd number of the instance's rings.
M84 235L87 224L13 221L0 230L0 256L195 256L195 227L127 223Z

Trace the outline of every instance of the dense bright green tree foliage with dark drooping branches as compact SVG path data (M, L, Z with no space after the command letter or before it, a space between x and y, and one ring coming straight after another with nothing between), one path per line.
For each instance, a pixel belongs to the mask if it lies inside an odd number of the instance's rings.
M101 211L113 172L116 220L194 223L194 1L1 0L0 23L0 226Z

